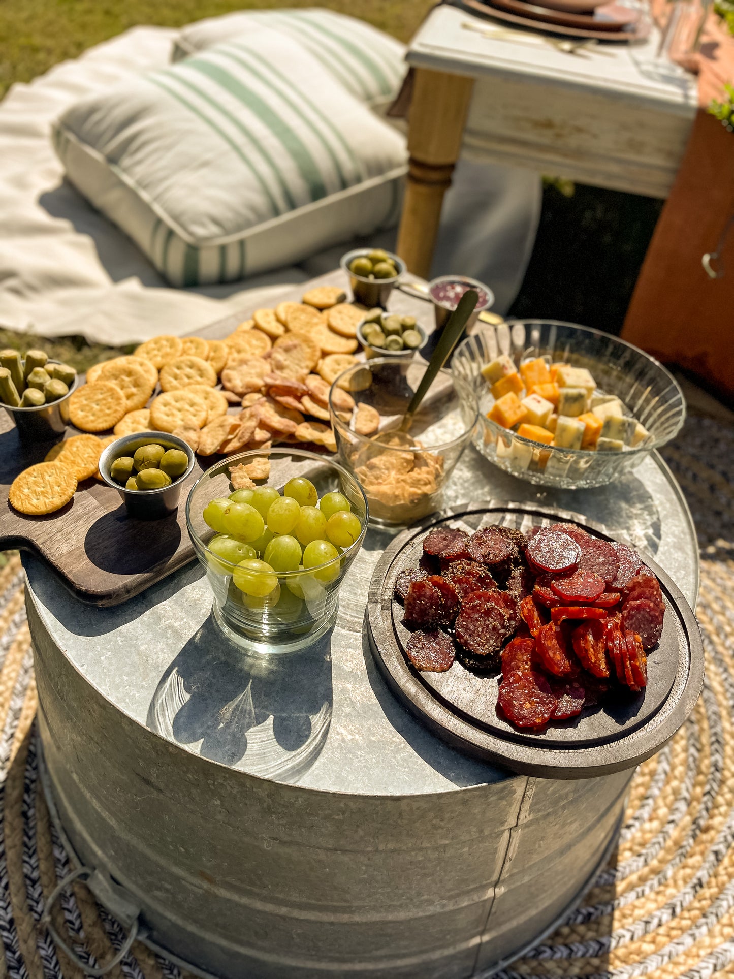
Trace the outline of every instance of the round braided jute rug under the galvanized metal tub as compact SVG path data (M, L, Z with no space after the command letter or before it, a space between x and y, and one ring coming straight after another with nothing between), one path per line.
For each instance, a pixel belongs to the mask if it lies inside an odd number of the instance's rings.
M619 845L578 909L502 979L734 975L734 425L691 419L664 454L699 534L704 693L689 722L637 770ZM71 867L38 779L17 556L0 570L0 663L0 979L81 979L41 924ZM124 940L78 882L57 904L54 923L90 966L108 961ZM110 974L182 975L140 943Z

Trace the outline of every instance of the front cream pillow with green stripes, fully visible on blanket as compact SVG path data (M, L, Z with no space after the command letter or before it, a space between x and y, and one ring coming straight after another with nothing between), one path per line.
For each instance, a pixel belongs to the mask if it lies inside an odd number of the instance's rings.
M176 286L390 226L406 168L403 137L275 32L84 99L54 143L69 180Z

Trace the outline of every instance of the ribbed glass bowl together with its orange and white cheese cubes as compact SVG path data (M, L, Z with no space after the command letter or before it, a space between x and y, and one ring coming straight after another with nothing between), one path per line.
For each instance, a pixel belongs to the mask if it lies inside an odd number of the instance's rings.
M515 320L468 337L451 370L480 402L477 448L540 486L605 486L669 442L685 399L654 357L555 320Z

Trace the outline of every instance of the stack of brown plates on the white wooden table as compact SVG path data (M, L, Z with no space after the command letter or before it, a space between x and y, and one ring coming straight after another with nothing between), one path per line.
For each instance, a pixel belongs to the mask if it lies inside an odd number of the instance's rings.
M614 0L542 0L542 5L528 0L460 0L460 5L473 14L572 37L624 42L640 40L649 31L640 11Z

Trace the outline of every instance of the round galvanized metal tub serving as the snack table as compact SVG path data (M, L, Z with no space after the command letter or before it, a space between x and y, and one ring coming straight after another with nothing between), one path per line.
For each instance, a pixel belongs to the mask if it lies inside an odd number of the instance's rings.
M690 514L657 455L616 487L537 492L470 448L446 502L489 496L605 524L695 604ZM330 637L268 661L219 636L196 564L96 609L23 559L65 835L100 899L128 924L139 909L147 940L199 972L486 975L558 922L614 846L631 771L491 768L390 694L364 629L389 541L368 534Z

